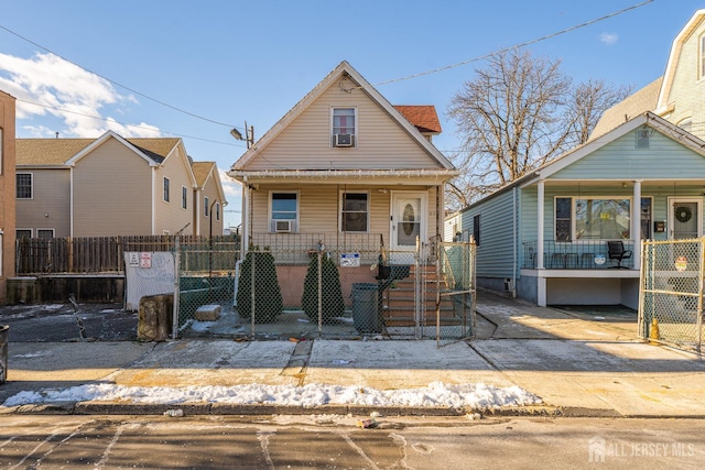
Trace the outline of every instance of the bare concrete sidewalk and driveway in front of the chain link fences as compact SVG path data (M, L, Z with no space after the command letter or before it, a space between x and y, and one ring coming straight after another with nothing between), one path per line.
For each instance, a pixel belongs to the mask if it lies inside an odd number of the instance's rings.
M543 400L539 407L496 413L705 417L705 362L693 353L636 341L636 335L629 334L628 320L590 320L486 293L480 296L477 310L482 338L443 348L427 340L12 342L8 382L0 385L0 403L23 390L95 381L148 387L321 383L377 390L423 387L432 382L481 382L518 385ZM636 332L636 318L633 324ZM129 414L161 413L166 407L93 402L0 407L0 413ZM322 406L316 412L340 411ZM304 411L285 406L228 408L194 404L188 412L286 414ZM315 413L305 411L312 412ZM348 408L347 412L365 409ZM393 412L419 415L469 411Z

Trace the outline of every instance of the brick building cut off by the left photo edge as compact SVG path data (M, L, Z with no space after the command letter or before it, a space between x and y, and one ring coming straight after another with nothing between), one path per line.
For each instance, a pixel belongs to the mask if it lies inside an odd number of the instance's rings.
M14 97L0 90L0 304L14 276Z

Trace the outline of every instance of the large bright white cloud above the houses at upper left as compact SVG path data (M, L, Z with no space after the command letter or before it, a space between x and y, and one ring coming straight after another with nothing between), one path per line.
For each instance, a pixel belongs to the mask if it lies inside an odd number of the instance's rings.
M18 98L18 120L32 121L20 127L36 136L53 136L55 130L50 130L47 122L39 122L47 120L61 121L65 128L58 131L65 136L95 138L108 129L123 136L161 134L155 125L122 124L106 118L107 106L121 113L120 103L137 100L120 95L108 80L54 54L37 53L31 58L0 54L0 89Z

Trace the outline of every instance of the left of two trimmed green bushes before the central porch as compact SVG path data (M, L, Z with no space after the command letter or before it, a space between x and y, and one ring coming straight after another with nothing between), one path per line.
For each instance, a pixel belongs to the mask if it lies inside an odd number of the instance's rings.
M252 261L254 261L254 323L272 323L281 315L284 306L276 278L274 256L269 251L250 250L242 261L238 281L238 314L245 320L252 318Z

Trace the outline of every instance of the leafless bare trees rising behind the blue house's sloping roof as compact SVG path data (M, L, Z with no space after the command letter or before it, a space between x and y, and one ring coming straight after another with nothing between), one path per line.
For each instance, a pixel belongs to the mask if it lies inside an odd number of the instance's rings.
M601 112L626 96L603 81L578 87L561 61L513 50L497 54L464 84L447 109L463 138L448 185L452 208L491 193L587 141Z

